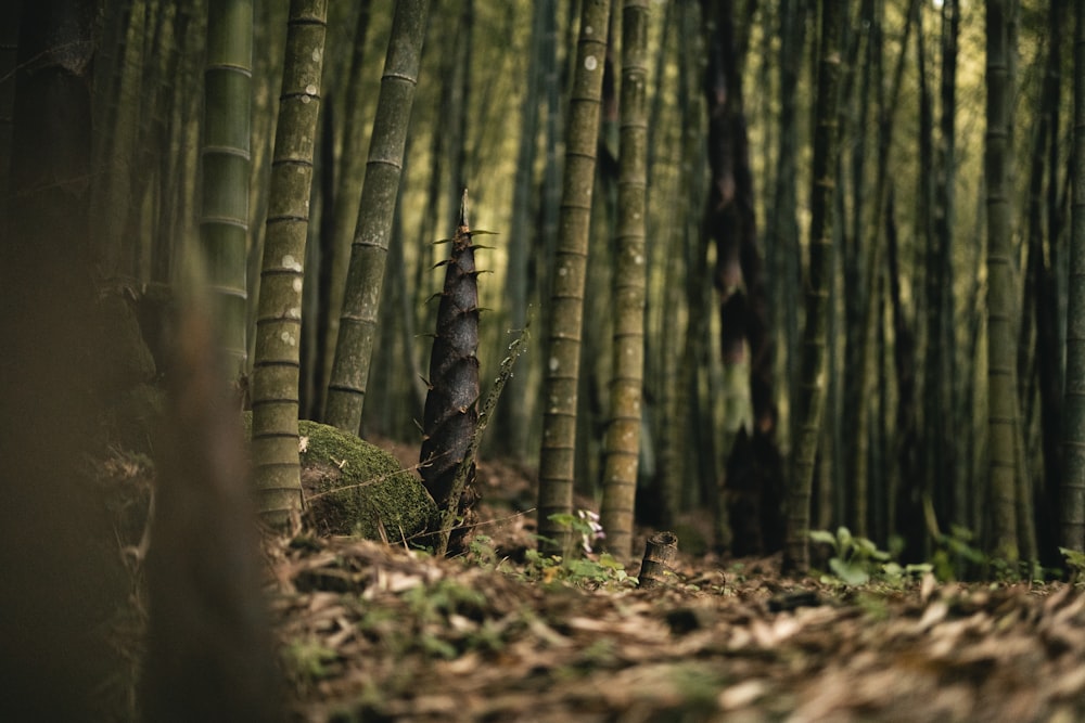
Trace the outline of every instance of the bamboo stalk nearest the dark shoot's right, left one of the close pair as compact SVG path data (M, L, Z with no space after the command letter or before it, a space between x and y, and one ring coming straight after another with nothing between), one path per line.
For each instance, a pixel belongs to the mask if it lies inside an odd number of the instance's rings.
M552 321L546 346L539 451L539 550L556 554L564 551L569 529L551 516L569 514L573 507L584 288L609 18L610 0L584 0L565 133L565 175L550 293Z

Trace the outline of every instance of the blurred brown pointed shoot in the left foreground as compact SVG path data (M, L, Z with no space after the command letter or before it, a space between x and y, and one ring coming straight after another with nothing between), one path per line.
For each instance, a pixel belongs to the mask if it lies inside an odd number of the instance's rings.
M177 323L146 576L149 721L281 720L241 417L209 320Z

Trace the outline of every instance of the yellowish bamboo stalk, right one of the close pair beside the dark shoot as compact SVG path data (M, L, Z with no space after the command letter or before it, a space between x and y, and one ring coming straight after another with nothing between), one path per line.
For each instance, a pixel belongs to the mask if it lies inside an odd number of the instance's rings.
M607 548L633 554L633 516L640 456L644 385L644 246L648 186L648 0L625 0L622 12L622 131L617 180L617 268L614 346L601 522Z

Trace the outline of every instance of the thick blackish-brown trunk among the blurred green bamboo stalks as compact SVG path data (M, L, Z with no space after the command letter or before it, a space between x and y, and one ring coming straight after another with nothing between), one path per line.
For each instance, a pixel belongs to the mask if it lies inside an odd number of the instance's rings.
M730 446L717 515L728 517L732 552L750 555L782 543L782 464L776 448L773 339L754 212L745 108L742 94L742 35L729 0L703 2L709 66L709 163L712 185L705 233L716 244L715 285L720 299L722 358L733 391L748 398L752 425L737 414L727 431ZM749 379L736 373L749 366ZM726 491L725 491L726 490ZM720 522L717 528L723 532ZM717 535L718 537L718 535ZM718 544L717 540L717 544Z

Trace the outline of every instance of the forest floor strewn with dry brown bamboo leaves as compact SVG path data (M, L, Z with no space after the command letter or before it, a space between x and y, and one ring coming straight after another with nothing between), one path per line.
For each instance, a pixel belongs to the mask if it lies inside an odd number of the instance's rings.
M463 556L347 539L270 551L297 720L1085 720L1073 585L845 586L781 578L778 558L679 554L668 584L640 590L590 557L533 559L532 515L515 512L531 482L507 465L478 480Z

